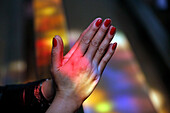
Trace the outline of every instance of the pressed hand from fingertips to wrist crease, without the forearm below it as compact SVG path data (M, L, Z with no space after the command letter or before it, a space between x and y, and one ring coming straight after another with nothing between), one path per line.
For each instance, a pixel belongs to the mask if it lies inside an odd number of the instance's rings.
M98 20L92 22L64 57L62 40L59 36L55 38L58 46L53 47L51 71L60 94L64 96L80 101L86 99L115 51L116 43L109 44L115 28L105 25L109 19L99 27L95 24Z

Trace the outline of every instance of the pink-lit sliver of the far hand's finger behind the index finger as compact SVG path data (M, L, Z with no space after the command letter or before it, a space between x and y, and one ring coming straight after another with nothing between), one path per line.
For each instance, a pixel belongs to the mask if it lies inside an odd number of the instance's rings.
M71 55L74 53L74 51L77 49L80 40L82 39L82 37L87 33L87 31L90 29L90 27L92 26L92 24L94 24L95 20L83 31L83 33L80 35L80 37L78 38L78 40L76 41L76 43L74 44L74 46L70 49L70 51L64 56L64 58L68 59L71 57Z

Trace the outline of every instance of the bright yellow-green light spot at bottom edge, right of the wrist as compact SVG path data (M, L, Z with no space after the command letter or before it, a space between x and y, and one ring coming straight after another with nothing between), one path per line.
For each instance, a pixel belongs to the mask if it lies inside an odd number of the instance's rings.
M100 113L111 112L112 108L113 108L112 103L102 102L97 104L97 106L95 107L95 111Z

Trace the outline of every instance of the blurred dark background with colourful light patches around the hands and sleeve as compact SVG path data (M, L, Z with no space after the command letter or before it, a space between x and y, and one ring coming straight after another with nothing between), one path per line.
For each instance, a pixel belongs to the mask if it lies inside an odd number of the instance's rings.
M168 0L1 0L0 85L49 78L52 38L67 53L96 18L111 18L115 55L85 113L170 113Z

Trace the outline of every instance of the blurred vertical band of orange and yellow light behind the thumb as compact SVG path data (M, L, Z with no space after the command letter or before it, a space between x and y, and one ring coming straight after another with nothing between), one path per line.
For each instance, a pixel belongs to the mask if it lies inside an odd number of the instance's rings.
M33 4L37 73L47 77L51 62L52 38L60 35L64 45L68 45L66 20L62 0L34 0Z

